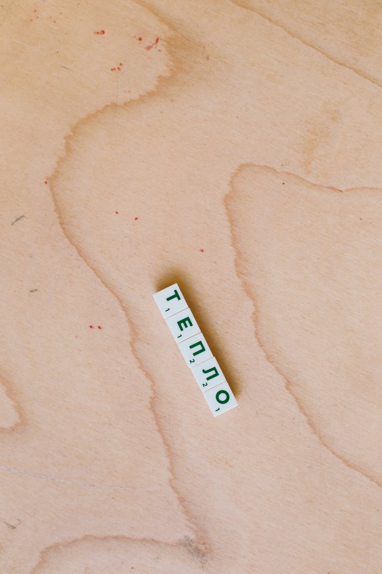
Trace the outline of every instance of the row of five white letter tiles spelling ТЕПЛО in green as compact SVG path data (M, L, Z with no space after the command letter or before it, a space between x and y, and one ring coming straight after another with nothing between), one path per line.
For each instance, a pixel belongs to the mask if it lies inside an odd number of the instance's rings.
M238 406L178 284L154 293L153 298L214 417Z

